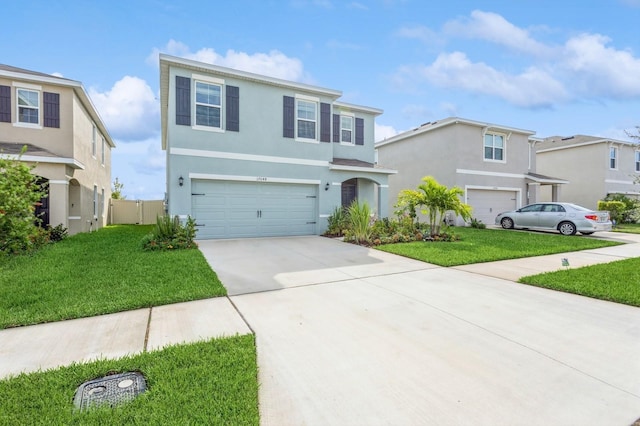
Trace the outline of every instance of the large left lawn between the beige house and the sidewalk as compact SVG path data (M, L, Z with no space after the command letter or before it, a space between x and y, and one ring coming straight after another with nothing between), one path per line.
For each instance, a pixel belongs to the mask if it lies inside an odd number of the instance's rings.
M151 226L78 234L0 258L0 329L222 296L199 250L142 250Z

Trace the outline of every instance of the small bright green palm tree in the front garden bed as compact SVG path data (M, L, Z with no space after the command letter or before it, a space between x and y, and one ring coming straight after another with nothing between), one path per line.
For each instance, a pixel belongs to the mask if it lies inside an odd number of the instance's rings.
M471 219L471 206L460 201L460 196L464 195L461 188L447 188L433 176L423 177L422 182L417 190L400 191L398 206L409 212L420 208L422 214L428 215L432 236L440 234L440 225L447 211L453 211L465 221Z

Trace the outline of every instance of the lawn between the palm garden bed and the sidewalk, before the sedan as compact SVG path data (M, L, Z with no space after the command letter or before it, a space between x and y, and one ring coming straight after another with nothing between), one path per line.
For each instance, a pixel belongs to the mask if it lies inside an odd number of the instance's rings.
M435 265L457 266L620 244L590 237L567 237L559 234L527 231L464 227L455 227L451 231L458 234L461 240L453 243L416 241L387 244L376 248Z

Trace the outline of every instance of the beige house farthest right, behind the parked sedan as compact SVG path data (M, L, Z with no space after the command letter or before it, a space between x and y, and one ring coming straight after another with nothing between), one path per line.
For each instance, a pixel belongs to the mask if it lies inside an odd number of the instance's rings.
M596 209L608 194L637 198L640 185L640 146L596 136L553 136L536 143L540 173L554 173L569 183L562 201ZM548 196L545 194L545 196ZM546 201L546 200L544 200Z

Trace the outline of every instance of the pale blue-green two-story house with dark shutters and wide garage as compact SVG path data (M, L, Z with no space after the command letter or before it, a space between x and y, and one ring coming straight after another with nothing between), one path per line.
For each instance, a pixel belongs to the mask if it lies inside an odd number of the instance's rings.
M386 216L382 111L341 94L160 55L168 213L195 218L197 238L321 234L356 198Z

